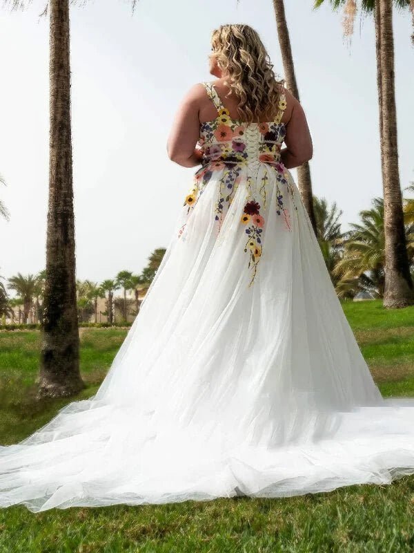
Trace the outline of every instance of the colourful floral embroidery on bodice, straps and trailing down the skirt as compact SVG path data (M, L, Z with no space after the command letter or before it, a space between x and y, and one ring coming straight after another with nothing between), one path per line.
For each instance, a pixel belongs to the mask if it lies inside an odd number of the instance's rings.
M202 122L200 124L199 147L202 152L202 167L197 171L193 189L191 189L185 200L187 215L204 191L210 178L214 176L215 187L217 186L217 199L215 201L215 221L217 222L217 233L224 221L226 210L230 207L235 192L242 178L244 167L251 167L251 149L248 148L251 129L257 128L257 149L255 149L256 161L263 164L264 170L260 176L253 176L247 171L246 178L246 200L243 214L240 216L240 225L246 232L247 241L244 252L248 254L248 268L252 271L249 286L255 280L258 263L262 257L263 232L266 224L264 214L268 203L269 182L275 182L276 213L282 217L284 227L292 229L286 198L282 191L290 194L292 204L295 206L293 186L289 182L288 173L284 167L280 151L286 136L286 126L282 123L284 110L286 109L286 95L282 93L277 104L278 113L273 122L261 122L247 124L240 120L230 118L230 111L224 108L213 84L205 83L206 91L217 109L215 120ZM246 139L247 137L247 139ZM256 140L256 138L255 138ZM250 153L248 153L250 151ZM249 157L250 156L250 157ZM255 162L255 160L253 160ZM270 166L274 171L275 178L270 180ZM221 171L221 172L220 172ZM272 206L273 207L273 206ZM262 212L261 212L262 211ZM188 220L188 219L187 219ZM186 223L179 230L179 236L184 232ZM184 238L183 238L184 239Z

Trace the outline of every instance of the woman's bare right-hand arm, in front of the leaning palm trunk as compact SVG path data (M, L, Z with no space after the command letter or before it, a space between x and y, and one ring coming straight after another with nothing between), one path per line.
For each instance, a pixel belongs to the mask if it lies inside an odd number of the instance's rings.
M302 106L290 93L286 93L286 96L293 102L293 109L286 123L286 148L282 149L280 155L286 169L293 169L312 159L313 144Z

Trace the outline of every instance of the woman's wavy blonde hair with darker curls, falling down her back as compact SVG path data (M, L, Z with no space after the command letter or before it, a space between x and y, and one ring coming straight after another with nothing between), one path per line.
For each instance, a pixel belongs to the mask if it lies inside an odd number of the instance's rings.
M273 118L283 81L277 80L273 64L257 32L248 25L221 25L213 30L211 46L217 65L228 75L225 84L239 99L240 118Z

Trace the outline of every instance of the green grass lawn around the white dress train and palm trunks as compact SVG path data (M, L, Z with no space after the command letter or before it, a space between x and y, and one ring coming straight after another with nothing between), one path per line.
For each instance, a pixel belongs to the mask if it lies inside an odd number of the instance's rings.
M386 396L414 396L414 308L344 303L373 377ZM82 329L81 371L97 390L126 336ZM39 332L0 332L0 442L45 424L68 400L34 401ZM0 553L414 552L414 476L293 498L218 499L173 505L0 509Z

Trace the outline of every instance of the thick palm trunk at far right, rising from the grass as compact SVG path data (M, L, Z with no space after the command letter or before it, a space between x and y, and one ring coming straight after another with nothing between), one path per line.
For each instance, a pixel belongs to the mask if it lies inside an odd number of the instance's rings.
M380 106L382 185L384 188L385 290L384 307L401 308L414 303L397 148L397 110L394 86L393 2L377 0L377 82Z

